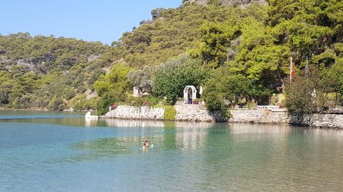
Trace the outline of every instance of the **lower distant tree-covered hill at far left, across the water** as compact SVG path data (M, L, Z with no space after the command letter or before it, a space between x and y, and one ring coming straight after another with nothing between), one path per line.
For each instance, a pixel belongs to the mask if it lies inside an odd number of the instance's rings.
M102 68L109 66L99 59L107 49L71 38L0 36L0 105L68 109L71 98L92 92Z

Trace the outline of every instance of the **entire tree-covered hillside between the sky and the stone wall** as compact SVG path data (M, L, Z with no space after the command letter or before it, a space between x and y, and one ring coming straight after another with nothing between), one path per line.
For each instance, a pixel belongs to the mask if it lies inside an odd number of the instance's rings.
M284 92L293 101L282 105L291 111L296 98L311 104L294 112L340 105L342 10L338 0L184 1L179 8L152 10L150 20L111 46L27 33L0 36L1 105L104 113L113 103L154 105L164 96L172 104L185 85L203 85L213 110L272 103L272 94ZM294 86L288 85L291 56ZM152 97L132 98L133 85L151 90ZM298 92L296 85L307 89ZM319 98L324 102L312 105Z

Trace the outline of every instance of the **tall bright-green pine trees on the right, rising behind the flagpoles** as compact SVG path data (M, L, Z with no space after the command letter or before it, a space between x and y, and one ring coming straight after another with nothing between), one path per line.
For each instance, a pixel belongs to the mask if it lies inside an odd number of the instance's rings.
M342 85L338 80L342 73L329 71L340 71L337 68L342 66L342 14L339 11L342 6L341 1L270 1L270 5L260 7L259 15L236 13L224 22L202 25L200 42L191 54L228 75L247 77L252 86L248 88L250 94L244 95L257 101L263 101L263 97L272 92L283 92L283 84L289 81L285 78L289 75L291 56L296 75L303 75L308 57L309 64L319 69L317 78L330 76L325 82L331 83L323 85L323 92L340 94ZM253 9L257 8L252 5L246 10ZM229 81L230 78L224 79ZM213 106L207 103L208 107L219 108L223 105L220 100L227 100L225 95L233 92L235 86L239 86L239 90L246 87L230 81L233 87L221 91L220 86L225 83L218 85L217 82L221 81L215 75L207 83L205 93L209 98L205 100L213 100Z

